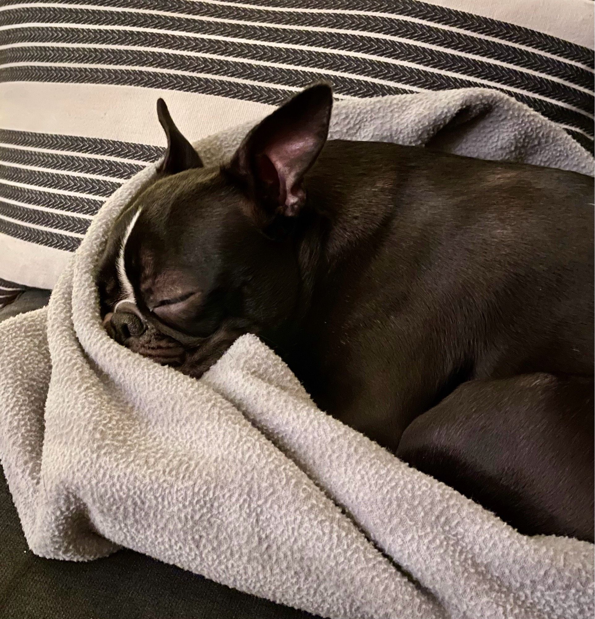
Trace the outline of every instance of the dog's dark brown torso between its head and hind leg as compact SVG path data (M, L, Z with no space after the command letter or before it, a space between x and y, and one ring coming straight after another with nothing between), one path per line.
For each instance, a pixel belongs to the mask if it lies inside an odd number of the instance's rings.
M312 371L320 389L334 380L348 389L352 368L386 375L396 364L424 383L407 381L427 394L419 412L452 381L593 374L590 178L333 141L306 186L330 220L304 329L328 368ZM312 365L309 354L304 363ZM328 391L347 400L345 389Z

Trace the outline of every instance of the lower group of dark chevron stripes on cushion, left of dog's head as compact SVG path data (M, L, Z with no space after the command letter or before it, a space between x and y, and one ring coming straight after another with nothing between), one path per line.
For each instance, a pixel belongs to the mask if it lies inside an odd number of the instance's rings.
M66 251L79 246L106 197L163 154L147 144L7 129L0 144L0 233Z

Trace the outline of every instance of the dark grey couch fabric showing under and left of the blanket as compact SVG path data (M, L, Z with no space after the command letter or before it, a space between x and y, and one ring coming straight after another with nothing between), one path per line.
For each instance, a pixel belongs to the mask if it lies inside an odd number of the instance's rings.
M47 303L30 290L0 321ZM1 377L0 377L1 378ZM307 613L166 565L131 550L88 563L42 559L28 549L0 470L0 618L307 619Z

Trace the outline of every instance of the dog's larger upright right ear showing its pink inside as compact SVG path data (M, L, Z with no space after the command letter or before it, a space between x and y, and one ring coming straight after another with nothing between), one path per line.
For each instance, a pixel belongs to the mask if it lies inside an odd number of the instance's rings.
M311 86L255 126L236 151L227 170L253 199L261 225L299 213L302 180L327 140L332 105L329 85Z

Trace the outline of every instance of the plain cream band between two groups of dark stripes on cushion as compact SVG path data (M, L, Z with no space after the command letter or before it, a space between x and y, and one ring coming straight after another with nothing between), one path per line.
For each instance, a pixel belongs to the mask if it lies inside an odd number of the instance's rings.
M156 103L163 97L192 141L255 122L273 105L202 93L111 84L0 82L0 128L165 146Z

